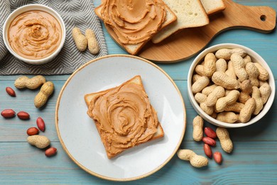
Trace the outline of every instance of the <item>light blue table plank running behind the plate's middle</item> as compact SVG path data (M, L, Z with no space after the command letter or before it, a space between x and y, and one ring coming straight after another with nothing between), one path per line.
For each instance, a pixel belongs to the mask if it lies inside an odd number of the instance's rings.
M55 103L58 99L60 89L63 87L63 80L53 80L55 84L55 92L50 97L47 105L43 109L37 109L33 105L33 98L38 93L38 90L16 90L17 97L10 97L6 94L4 87L12 85L10 80L1 80L0 90L0 103L1 110L6 108L12 108L16 112L24 110L29 112L31 115L30 120L19 120L18 117L12 119L4 119L0 117L0 142L25 142L26 141L26 130L29 127L36 127L37 117L43 117L45 121L46 129L45 134L51 140L58 142L58 135L55 129ZM175 80L180 93L185 101L185 108L187 114L187 129L185 132L185 141L192 141L192 120L197 115L190 100L188 98L188 88L186 80ZM268 141L277 140L277 120L272 115L277 115L277 104L273 103L271 110L268 114L254 125L249 127L242 127L238 129L229 129L232 138L235 141ZM215 128L208 122L205 122L206 126ZM251 132L248 132L249 129ZM255 136L255 137L254 137Z

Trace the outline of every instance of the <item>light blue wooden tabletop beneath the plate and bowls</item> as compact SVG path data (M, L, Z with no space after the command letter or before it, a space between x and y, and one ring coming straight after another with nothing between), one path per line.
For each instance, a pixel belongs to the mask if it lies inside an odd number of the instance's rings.
M99 4L100 0L94 2ZM277 11L276 0L237 0L248 6L271 6ZM109 54L125 53L104 29ZM257 33L248 30L232 30L220 33L208 46L217 43L238 43L259 53L277 76L277 33ZM175 81L185 101L187 129L181 148L192 149L204 155L202 143L192 139L192 119L196 112L188 100L187 75L195 57L180 63L158 64ZM31 76L30 76L31 77ZM55 105L69 75L46 76L55 84L55 93L48 105L38 110L33 106L37 90L16 90L17 97L6 95L5 88L13 87L18 75L0 76L0 107L13 108L16 112L25 110L31 120L18 118L5 120L0 117L0 184L277 184L277 102L273 102L268 114L254 125L229 129L234 142L232 154L226 154L221 147L213 150L222 152L221 165L210 160L207 168L196 169L188 162L174 156L161 170L144 179L131 182L114 182L99 179L80 169L63 151L55 129ZM58 149L55 157L47 158L43 151L26 142L26 129L36 126L36 117L43 117L46 123L45 135L52 146ZM205 122L205 125L213 127Z

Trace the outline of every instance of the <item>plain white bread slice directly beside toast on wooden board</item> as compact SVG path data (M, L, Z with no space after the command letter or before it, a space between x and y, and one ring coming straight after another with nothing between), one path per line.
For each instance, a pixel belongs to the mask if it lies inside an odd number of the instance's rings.
M159 43L183 28L205 26L209 23L209 18L200 0L163 1L175 13L177 21L171 23L153 36L153 43Z

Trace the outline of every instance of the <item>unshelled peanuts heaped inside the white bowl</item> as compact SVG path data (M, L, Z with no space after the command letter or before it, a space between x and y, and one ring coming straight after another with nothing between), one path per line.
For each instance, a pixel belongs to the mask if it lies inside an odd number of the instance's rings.
M195 66L192 93L201 109L222 122L249 122L266 104L268 71L241 48L207 53Z

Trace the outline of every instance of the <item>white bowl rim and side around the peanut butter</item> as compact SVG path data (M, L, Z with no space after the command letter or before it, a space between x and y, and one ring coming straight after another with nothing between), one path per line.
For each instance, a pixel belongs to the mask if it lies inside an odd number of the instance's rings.
M32 10L45 11L48 14L51 14L52 16L54 16L57 19L57 21L60 23L60 27L62 28L62 39L60 41L60 45L52 54L50 54L50 56L47 56L45 58L40 58L40 59L24 58L24 57L18 55L15 51L13 51L13 49L11 48L10 43L8 41L7 29L9 28L10 23L13 20L13 18L22 14L23 12L32 11ZM18 9L15 9L13 12L11 12L11 14L9 14L9 16L6 18L6 20L4 22L2 36L3 36L3 40L4 40L4 44L5 44L6 48L13 56L18 58L19 60L22 60L25 63L29 63L29 64L33 64L33 65L40 65L40 64L50 62L50 60L55 58L55 56L57 56L58 53L60 53L60 51L62 50L64 43L65 43L65 38L66 38L65 22L63 21L63 18L60 16L60 14L58 14L57 11L50 8L49 6L45 6L43 4L26 4L24 6L18 7Z

